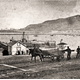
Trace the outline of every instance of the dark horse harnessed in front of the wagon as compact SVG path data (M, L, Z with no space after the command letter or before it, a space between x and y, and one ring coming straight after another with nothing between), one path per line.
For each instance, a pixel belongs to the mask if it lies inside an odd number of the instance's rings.
M29 49L29 55L31 54L31 61L33 60L33 57L35 59L35 62L36 62L36 57L39 56L40 57L40 60L42 61L43 60L43 54L42 54L42 50L37 50L35 51L35 49Z

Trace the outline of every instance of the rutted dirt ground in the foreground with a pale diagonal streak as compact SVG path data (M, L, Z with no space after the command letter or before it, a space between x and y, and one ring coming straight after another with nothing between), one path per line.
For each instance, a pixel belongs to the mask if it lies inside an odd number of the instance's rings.
M80 58L60 62L45 58L43 62L30 56L15 55L0 58L0 79L80 79Z

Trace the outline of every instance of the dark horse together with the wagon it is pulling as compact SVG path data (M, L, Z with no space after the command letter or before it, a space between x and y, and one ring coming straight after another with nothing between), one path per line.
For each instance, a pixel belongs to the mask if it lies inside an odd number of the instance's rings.
M60 45L63 45L63 43L60 43ZM62 47L62 46L61 46ZM35 50L37 50L37 52L35 52ZM51 60L54 61L54 58L56 57L57 61L60 61L61 59L64 58L64 53L65 51L62 49L60 50L58 47L55 48L45 48L45 49L41 49L39 46L34 45L34 49L30 50L30 52L32 53L32 57L35 57L36 60L36 56L39 56L41 58L51 58Z

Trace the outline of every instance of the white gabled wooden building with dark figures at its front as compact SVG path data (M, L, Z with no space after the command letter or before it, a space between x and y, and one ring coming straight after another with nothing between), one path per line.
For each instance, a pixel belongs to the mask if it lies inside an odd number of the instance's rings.
M8 44L8 52L9 55L22 55L29 54L29 49L27 48L27 44L24 45L21 41L10 41Z

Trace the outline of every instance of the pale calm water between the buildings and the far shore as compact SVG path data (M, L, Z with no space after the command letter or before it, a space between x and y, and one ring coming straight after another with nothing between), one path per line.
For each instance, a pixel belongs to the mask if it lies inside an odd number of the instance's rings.
M10 39L13 37L15 40L21 40L22 35L0 35L0 41L2 42L10 42ZM35 37L34 35L25 35L27 40L36 39L37 41L56 41L56 44L63 39L63 42L67 43L70 48L75 49L80 46L80 36L76 35L38 35Z

